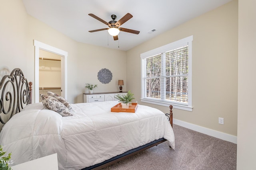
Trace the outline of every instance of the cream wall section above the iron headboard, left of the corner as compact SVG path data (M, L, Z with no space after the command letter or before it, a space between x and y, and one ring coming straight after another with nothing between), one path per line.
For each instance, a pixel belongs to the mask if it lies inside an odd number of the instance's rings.
M12 71L18 67L28 75L26 18L27 13L22 0L0 0L0 70L7 68Z

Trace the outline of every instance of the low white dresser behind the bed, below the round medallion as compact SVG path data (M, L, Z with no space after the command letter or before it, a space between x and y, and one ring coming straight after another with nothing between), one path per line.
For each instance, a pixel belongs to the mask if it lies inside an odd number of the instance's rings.
M84 93L84 103L117 100L115 98L117 94L126 95L127 92L105 92L105 93L93 93L93 94Z

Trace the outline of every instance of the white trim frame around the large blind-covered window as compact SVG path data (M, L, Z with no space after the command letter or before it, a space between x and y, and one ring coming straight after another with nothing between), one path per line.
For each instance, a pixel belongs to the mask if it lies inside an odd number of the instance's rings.
M140 61L141 61L141 67L140 67L141 68L141 74L140 74L141 75L141 84L140 84L141 98L140 98L140 101L141 102L157 104L160 106L167 106L167 107L172 105L174 108L177 108L177 109L192 111L192 108L193 108L192 107L192 41L193 41L193 35L140 54ZM180 48L180 47L186 46L186 45L188 45L188 103L181 104L181 103L176 103L176 102L172 102L172 101L147 98L143 92L143 87L142 87L142 85L143 85L143 75L142 74L144 73L143 65L142 65L143 59L152 57L152 56L160 54L160 53L165 53L166 51L177 49L177 48ZM162 69L165 69L165 68L162 68Z

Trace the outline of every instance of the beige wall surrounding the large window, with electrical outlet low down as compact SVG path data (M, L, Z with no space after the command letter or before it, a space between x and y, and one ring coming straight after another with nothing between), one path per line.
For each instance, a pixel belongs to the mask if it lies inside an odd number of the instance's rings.
M140 54L193 35L193 111L173 109L174 119L237 134L238 1L194 18L127 51L127 87L140 101ZM157 107L165 113L168 107ZM224 125L218 124L224 118Z

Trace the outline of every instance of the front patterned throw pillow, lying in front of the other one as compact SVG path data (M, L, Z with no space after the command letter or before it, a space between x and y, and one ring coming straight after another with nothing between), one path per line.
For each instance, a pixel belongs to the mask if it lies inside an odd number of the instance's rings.
M46 109L56 111L62 116L72 116L69 109L56 98L40 94L40 99L42 100L42 103Z

